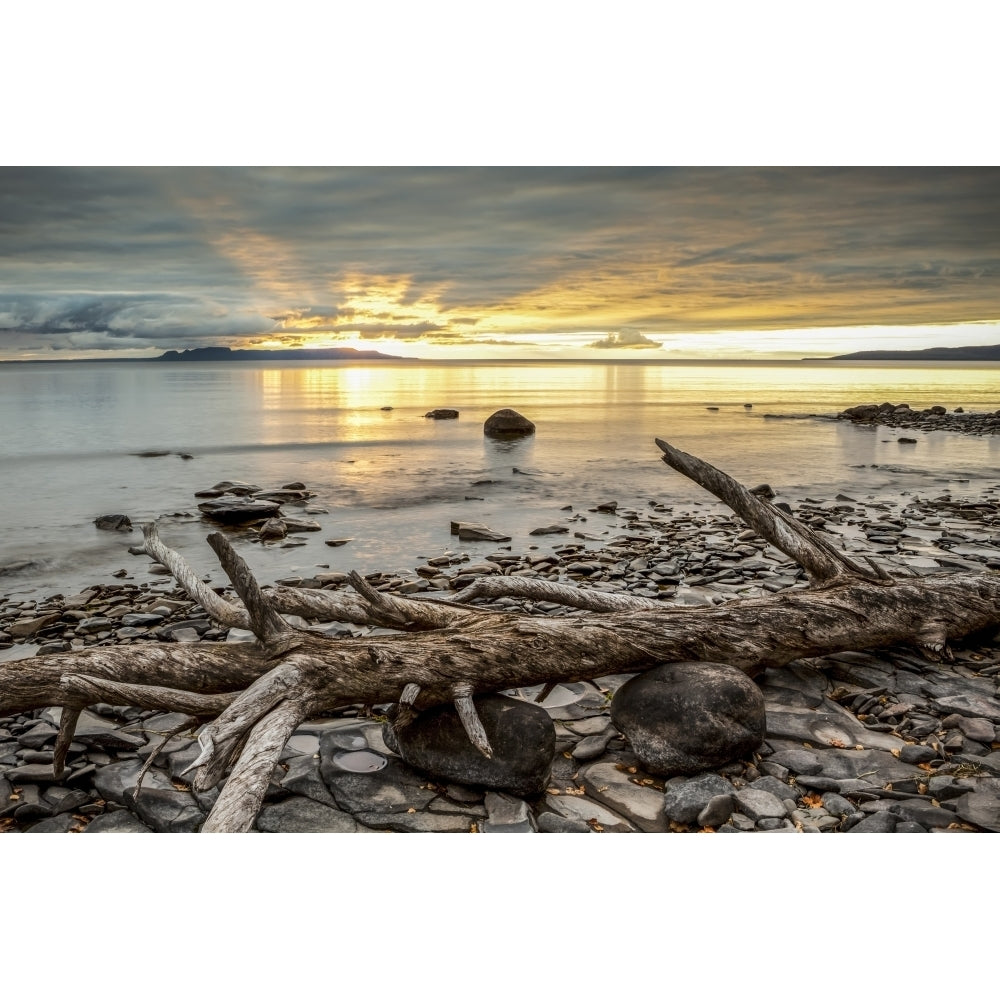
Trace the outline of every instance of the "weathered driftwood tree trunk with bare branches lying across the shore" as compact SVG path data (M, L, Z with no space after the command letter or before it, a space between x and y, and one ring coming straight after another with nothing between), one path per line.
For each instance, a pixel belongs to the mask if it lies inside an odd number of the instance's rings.
M754 676L799 657L904 643L948 657L949 639L1000 624L1000 574L894 579L870 559L867 565L850 559L713 466L656 443L668 465L796 560L809 586L703 608L518 577L484 578L453 602L390 596L357 573L350 577L353 594L262 590L226 539L209 535L236 603L198 579L149 525L148 554L168 566L211 617L252 630L256 642L97 647L0 665L0 716L63 707L57 776L89 704L131 704L206 722L193 785L225 784L202 829L241 832L253 827L286 740L310 716L396 703L396 725L404 725L413 713L453 703L470 740L489 756L473 703L477 694L638 673L664 661L721 661ZM592 614L548 618L469 606L477 597L507 595ZM283 615L396 631L331 638L293 627Z

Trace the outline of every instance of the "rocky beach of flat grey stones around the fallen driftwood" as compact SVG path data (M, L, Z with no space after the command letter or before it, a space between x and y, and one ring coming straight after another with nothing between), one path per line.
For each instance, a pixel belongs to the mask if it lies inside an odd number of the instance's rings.
M996 414L922 413L894 404L853 407L841 418L996 433ZM904 439L899 439L904 443ZM922 577L1000 571L1000 485L867 495L848 484L833 496L788 502L765 483L754 490L848 553L889 573ZM294 544L323 530L302 483L260 489L219 483L202 515L252 530L261 544ZM569 498L568 498L569 499ZM254 527L240 528L239 513ZM285 510L284 508L289 508ZM252 509L251 509L252 508ZM266 508L266 509L265 509ZM473 508L474 509L474 508ZM234 513L235 511L235 513ZM295 513L292 513L294 511ZM127 528L121 522L103 525ZM567 503L515 552L502 531L452 525L451 549L412 571L370 574L375 590L442 600L477 587L472 604L557 617L563 604L491 597L497 577L627 593L666 605L719 605L806 587L803 570L722 504L644 507L600 496ZM346 542L330 539L328 544ZM490 541L471 554L463 543ZM141 549L113 585L44 599L0 598L0 662L100 645L252 641L213 622ZM274 581L303 590L344 590L343 573ZM296 624L330 635L377 631L349 622ZM931 657L931 658L928 658ZM757 678L764 741L701 773L665 777L613 722L615 693L631 675L505 692L553 734L551 752L521 762L518 781L450 780L413 766L396 745L389 705L354 706L311 719L288 740L256 823L259 832L995 832L1000 830L1000 634L976 633L938 656L890 647L793 661ZM537 699L537 701L536 701ZM540 707L539 707L540 706ZM192 790L185 771L197 731L179 713L95 704L84 711L58 779L60 710L0 719L0 831L196 832L217 790ZM551 725L551 730L549 726ZM543 741L544 742L544 741ZM147 768L148 765L148 768ZM141 790L135 794L142 776Z

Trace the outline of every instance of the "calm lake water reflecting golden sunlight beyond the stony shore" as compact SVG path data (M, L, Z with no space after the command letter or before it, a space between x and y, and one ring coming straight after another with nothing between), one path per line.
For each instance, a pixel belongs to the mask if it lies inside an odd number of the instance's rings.
M978 494L1000 481L997 437L918 433L917 445L901 446L908 432L829 418L883 400L995 410L998 376L989 363L0 365L0 592L72 593L112 582L121 568L156 581L127 552L141 542L138 528L94 527L107 513L158 521L167 544L223 582L194 498L223 479L302 481L329 511L302 547L238 542L262 582L320 566L412 570L457 547L452 520L485 522L520 551L565 542L528 533L564 521L567 504L588 518L575 529L612 534L619 522L588 507L713 506L660 461L656 437L747 485L769 482L790 501L944 486ZM437 407L461 415L424 417ZM537 433L484 438L484 420L501 407ZM345 537L342 547L324 544ZM484 555L496 546L461 548Z

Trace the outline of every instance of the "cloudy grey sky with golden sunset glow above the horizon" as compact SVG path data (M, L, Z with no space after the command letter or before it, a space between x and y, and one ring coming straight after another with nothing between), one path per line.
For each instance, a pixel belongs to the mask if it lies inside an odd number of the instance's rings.
M1000 343L1000 169L0 169L0 357Z

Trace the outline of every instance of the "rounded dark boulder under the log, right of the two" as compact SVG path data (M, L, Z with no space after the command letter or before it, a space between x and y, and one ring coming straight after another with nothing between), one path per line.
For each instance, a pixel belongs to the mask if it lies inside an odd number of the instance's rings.
M727 663L664 663L623 684L611 721L654 774L698 774L764 740L764 696Z

